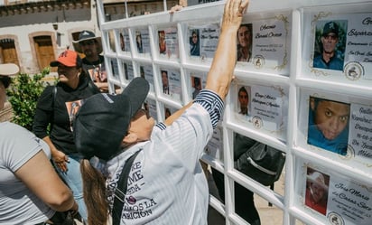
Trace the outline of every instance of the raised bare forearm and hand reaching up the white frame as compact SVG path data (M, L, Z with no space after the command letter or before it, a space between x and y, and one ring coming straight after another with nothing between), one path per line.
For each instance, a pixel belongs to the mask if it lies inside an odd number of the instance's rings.
M216 92L225 99L237 62L237 29L249 0L227 0L222 18L219 44L210 67L205 89Z

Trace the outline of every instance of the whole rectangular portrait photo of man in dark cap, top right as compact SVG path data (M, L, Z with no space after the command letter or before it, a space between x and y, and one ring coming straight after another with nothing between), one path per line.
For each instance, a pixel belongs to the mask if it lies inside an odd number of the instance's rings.
M312 67L325 70L343 70L347 39L346 20L318 21Z

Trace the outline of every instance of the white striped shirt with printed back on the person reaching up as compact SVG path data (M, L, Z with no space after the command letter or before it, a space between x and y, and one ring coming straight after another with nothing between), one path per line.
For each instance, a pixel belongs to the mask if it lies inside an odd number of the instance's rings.
M153 127L151 139L107 162L108 201L131 155L141 151L129 173L121 224L207 224L209 191L200 157L223 112L223 102L201 90L172 126Z

